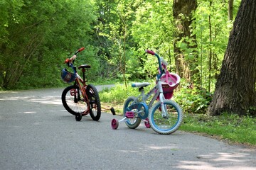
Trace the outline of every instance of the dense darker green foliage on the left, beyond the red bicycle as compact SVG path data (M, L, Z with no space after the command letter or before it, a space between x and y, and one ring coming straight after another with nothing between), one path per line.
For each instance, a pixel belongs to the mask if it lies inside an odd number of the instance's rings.
M10 7L3 12L6 18L0 17L5 23L0 28L1 86L58 86L61 56L89 44L90 24L96 19L92 1L1 3Z

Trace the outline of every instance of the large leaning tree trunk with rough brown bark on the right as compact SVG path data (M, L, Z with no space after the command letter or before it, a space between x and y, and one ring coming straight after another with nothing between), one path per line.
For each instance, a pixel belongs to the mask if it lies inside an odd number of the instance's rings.
M256 115L256 1L242 0L208 114Z

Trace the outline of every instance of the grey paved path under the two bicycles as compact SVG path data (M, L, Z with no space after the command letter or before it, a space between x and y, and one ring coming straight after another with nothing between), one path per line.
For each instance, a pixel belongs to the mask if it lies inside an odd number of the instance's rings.
M256 151L208 137L159 135L90 115L80 122L62 106L63 89L0 92L0 169L256 169Z

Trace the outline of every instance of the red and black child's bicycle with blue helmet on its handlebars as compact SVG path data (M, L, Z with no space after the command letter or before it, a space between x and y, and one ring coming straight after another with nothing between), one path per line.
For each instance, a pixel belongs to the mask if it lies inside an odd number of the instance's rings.
M82 50L85 50L85 47L81 47L75 52L73 57L65 60L68 67L72 68L73 73L68 72L67 69L63 69L61 77L63 81L67 83L74 82L74 84L63 90L61 101L64 108L72 115L75 115L75 120L80 121L82 116L90 113L92 120L97 121L101 115L100 96L96 87L92 84L87 85L87 80L85 79L85 71L86 69L90 69L90 65L82 64L78 67L78 69L82 70L82 78L73 65L78 52Z

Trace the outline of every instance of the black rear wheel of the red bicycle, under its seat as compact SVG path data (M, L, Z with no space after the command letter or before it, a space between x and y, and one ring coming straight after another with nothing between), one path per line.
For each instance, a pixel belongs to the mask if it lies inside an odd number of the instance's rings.
M90 116L92 120L100 120L101 106L100 96L95 86L89 84L86 88L86 94L90 103Z

